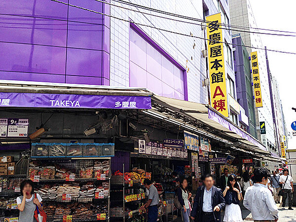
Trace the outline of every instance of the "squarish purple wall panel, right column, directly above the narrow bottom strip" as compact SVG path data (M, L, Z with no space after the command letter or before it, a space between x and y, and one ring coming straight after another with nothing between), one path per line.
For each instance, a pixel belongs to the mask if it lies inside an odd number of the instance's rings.
M102 51L68 48L67 75L102 76Z

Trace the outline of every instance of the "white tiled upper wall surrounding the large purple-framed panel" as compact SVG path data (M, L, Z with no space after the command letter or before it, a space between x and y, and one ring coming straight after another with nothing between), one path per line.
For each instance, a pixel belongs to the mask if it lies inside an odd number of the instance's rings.
M182 14L188 17L203 19L203 1L202 0L129 0L132 3L144 5L175 14ZM215 14L218 9L213 0L204 0L209 8L210 14ZM167 16L121 4L111 0L111 4L128 7L141 12ZM222 0L222 4L227 8L227 3ZM226 13L229 13L228 8ZM111 16L131 20L135 23L147 24L158 29L169 30L185 35L192 34L197 37L204 37L200 25L186 24L183 22L172 21L152 15L133 12L116 6L111 6ZM169 18L182 20L182 18L168 16ZM188 21L188 20L185 20ZM192 22L192 21L190 21ZM199 22L196 22L199 23ZM188 100L197 103L208 103L207 89L202 86L202 80L207 77L206 59L202 56L202 50L205 48L205 41L200 38L186 37L160 31L154 28L139 27L166 50L175 60L177 60L188 72ZM225 35L228 42L231 37ZM194 46L195 45L195 46ZM193 47L194 46L194 47ZM129 23L111 18L111 86L129 86ZM230 76L234 77L233 71L229 71Z

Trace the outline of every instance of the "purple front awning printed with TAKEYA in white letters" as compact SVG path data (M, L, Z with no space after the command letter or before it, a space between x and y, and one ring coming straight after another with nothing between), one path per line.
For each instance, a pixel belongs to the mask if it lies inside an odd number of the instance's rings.
M5 108L151 109L151 96L142 88L0 82L0 107Z

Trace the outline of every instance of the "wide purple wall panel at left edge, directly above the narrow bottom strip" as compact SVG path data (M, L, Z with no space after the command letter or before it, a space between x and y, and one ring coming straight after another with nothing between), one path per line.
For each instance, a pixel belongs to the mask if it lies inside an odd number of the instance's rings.
M17 43L0 48L1 71L65 74L65 48Z

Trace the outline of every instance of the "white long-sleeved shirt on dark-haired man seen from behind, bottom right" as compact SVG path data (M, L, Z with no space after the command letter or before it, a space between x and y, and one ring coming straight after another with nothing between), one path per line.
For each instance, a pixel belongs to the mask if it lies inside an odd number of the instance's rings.
M254 221L273 221L278 219L278 209L268 188L262 184L248 187L244 206L252 212Z

